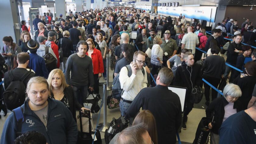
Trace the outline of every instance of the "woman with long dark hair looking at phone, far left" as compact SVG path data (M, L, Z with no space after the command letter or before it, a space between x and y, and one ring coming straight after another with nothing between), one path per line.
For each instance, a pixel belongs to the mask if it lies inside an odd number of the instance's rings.
M10 67L13 68L13 58L21 51L21 48L13 42L11 36L3 37L3 43L5 44L2 49L2 55L5 58L5 63Z

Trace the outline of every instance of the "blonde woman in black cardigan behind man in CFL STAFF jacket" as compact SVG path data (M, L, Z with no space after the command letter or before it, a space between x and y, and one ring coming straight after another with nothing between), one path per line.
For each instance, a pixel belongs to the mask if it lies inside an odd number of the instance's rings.
M79 104L79 102L76 100L73 88L66 83L66 79L62 70L52 70L49 74L47 82L49 84L50 97L54 100L59 100L63 104L65 104L65 106L72 113L75 121L76 109L80 109L82 111L88 110L87 108Z

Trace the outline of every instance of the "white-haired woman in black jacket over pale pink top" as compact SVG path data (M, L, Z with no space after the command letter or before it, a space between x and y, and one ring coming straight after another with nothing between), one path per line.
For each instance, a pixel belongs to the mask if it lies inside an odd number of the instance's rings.
M223 97L214 99L206 108L208 127L211 129L211 144L219 144L219 128L222 123L232 114L242 110L241 103L237 100L241 95L239 86L233 83L227 84L223 90Z

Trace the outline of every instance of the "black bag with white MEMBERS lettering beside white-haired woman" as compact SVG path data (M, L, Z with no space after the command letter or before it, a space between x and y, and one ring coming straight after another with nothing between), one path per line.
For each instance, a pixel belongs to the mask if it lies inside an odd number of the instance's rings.
M210 129L208 128L208 121L203 117L197 127L196 136L193 144L205 144L208 140Z

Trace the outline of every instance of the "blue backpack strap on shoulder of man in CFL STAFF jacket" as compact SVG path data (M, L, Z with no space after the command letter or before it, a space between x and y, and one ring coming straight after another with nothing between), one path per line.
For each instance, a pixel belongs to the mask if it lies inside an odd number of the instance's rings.
M16 120L16 124L17 124L17 131L16 131L16 137L19 137L22 132L22 123L24 121L24 114L23 114L23 109L22 107L17 107L16 109L12 110L15 120Z

